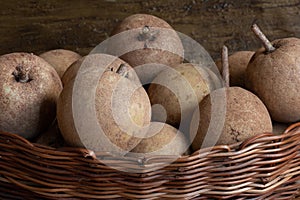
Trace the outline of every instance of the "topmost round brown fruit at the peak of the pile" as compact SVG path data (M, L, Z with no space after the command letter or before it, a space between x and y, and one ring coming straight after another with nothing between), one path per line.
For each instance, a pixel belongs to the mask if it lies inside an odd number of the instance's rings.
M163 66L181 63L184 54L176 31L163 19L149 14L131 15L115 27L108 53L135 67L142 83L149 83ZM137 67L141 65L144 67Z

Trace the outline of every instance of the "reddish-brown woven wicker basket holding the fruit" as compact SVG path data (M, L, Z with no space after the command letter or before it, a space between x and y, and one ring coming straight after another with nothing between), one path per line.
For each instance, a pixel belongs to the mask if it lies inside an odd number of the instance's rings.
M166 165L172 159L54 149L0 132L0 199L294 199L300 123Z

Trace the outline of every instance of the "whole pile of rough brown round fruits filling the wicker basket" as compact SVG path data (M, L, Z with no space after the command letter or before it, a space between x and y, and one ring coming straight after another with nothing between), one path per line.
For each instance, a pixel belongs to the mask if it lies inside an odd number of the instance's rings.
M178 156L282 133L300 120L300 39L252 31L263 47L228 56L224 46L217 71L185 59L177 32L146 14L124 19L105 51L2 55L0 130L54 147Z

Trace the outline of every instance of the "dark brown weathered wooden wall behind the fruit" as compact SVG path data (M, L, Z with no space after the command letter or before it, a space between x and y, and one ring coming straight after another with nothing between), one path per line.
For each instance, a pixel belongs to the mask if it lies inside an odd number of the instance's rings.
M23 0L1 1L0 54L67 48L88 54L128 15L148 13L198 41L213 58L260 46L256 22L270 40L300 37L300 0Z

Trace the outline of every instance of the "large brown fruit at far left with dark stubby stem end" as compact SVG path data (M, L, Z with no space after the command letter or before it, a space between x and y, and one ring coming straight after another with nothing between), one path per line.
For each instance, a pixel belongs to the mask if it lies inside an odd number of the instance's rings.
M56 115L62 83L54 68L29 53L0 56L0 130L32 139Z

